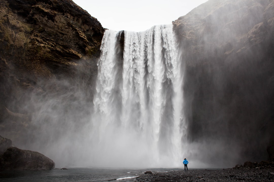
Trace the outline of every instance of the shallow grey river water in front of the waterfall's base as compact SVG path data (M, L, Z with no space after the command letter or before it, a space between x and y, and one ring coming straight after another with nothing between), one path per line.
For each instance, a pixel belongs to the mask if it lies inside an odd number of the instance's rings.
M168 172L182 169L98 169L98 168L67 168L68 170L53 169L49 171L13 171L0 172L1 182L85 182L85 181L134 181L145 171Z

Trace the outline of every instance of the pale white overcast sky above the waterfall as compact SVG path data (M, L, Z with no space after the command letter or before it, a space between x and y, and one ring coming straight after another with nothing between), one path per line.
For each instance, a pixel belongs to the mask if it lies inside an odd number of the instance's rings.
M104 28L145 31L170 24L208 0L73 0L97 18Z

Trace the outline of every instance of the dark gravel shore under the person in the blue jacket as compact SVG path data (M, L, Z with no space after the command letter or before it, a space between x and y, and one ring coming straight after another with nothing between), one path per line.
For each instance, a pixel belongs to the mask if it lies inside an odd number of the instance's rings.
M237 167L228 169L194 169L166 173L143 174L137 182L147 181L274 181L274 163L257 167Z

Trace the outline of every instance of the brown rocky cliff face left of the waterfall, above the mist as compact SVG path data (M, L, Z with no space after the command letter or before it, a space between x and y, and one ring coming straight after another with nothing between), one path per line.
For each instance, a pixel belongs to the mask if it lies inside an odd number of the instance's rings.
M99 21L71 0L1 0L0 5L2 135L19 136L45 104L36 103L45 100L62 100L65 112L85 112L66 101L91 103L104 34Z

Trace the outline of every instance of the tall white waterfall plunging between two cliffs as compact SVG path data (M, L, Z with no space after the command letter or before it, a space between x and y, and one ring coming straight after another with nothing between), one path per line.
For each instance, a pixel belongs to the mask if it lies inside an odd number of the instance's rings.
M183 79L172 28L105 31L90 132L94 164L182 165Z

